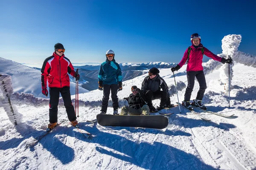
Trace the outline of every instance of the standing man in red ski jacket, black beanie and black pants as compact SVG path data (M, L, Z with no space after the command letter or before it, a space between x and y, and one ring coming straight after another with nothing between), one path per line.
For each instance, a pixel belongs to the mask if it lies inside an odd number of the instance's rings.
M72 105L70 96L70 79L69 74L80 79L79 74L74 71L74 67L70 60L64 56L65 48L61 43L54 45L54 53L52 56L44 60L44 64L41 69L41 82L42 82L42 94L48 96L47 81L49 86L49 125L48 128L52 129L57 125L58 121L58 101L61 96L64 101L64 106L67 111L68 119L73 126L78 126L76 121L76 113L74 106Z

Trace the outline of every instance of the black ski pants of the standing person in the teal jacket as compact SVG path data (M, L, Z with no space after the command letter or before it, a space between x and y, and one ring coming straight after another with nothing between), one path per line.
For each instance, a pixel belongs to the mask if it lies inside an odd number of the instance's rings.
M118 85L103 85L102 109L100 111L104 111L105 113L107 113L110 91L111 91L111 99L113 102L114 111L119 108L117 90L118 90Z

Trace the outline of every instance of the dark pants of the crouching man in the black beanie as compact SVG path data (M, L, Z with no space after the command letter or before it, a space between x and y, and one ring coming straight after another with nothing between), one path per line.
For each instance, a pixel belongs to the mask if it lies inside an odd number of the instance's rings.
M170 94L166 91L155 91L155 92L153 92L151 90L148 90L145 94L145 97L148 100L149 108L152 107L152 100L155 100L155 99L161 99L160 106L171 104Z

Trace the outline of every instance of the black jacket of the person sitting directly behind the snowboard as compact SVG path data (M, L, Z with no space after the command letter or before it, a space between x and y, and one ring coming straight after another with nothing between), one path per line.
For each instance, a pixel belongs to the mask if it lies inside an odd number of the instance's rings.
M130 96L125 99L128 101L129 107L134 109L139 109L142 108L143 105L147 105L147 101L141 92L137 93L135 96L134 94L130 94Z

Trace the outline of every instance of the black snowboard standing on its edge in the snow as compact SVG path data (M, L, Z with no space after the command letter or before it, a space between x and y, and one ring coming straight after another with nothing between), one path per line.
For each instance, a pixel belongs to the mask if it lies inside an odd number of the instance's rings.
M145 127L163 129L169 124L169 119L163 115L111 115L98 114L97 122L102 126Z

